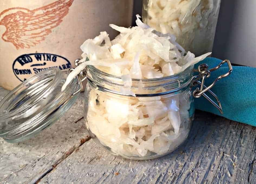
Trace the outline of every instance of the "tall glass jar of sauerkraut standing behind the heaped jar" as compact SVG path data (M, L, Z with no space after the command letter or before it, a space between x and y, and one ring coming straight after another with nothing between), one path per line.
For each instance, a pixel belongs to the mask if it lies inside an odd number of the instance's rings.
M221 0L143 0L145 24L174 34L196 56L211 52Z

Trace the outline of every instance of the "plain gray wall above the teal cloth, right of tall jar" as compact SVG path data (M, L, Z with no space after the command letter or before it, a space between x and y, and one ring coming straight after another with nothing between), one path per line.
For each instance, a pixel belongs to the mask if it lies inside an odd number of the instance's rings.
M256 1L222 0L213 57L256 67Z

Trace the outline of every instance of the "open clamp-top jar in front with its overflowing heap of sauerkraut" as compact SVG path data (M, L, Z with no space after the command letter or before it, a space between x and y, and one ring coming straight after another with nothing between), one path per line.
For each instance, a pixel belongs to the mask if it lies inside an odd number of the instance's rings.
M111 24L120 32L112 41L106 32L86 40L83 59L76 61L62 90L75 77L87 78L84 103L90 136L114 155L143 160L166 155L187 139L193 96L209 89L203 85L210 76L207 65L200 65L196 76L193 66L211 53L185 54L174 35L155 31L138 15L136 23L132 28ZM196 84L201 87L192 92Z

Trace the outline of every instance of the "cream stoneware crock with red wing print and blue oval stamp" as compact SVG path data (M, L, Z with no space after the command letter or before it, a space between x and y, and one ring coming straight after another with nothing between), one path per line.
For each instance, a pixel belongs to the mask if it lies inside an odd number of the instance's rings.
M42 69L73 66L83 41L100 31L114 38L110 23L131 25L132 6L132 0L2 0L0 86L11 90Z

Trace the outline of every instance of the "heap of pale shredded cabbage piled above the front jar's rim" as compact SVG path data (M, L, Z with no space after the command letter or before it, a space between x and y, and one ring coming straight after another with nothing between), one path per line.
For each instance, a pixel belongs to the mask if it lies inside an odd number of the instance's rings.
M191 56L191 52L184 55L185 50L176 42L174 35L154 31L141 22L139 15L136 23L138 26L132 28L110 24L113 29L120 32L111 42L105 31L94 39L86 40L81 46L84 53L80 63L83 64L70 74L62 90L86 65L105 67L105 72L119 77L127 74L128 70L130 78L150 79L182 72L211 54L209 52L196 58ZM105 44L102 44L103 41ZM89 61L85 62L86 58L89 58ZM112 68L113 64L115 70ZM134 96L129 86L122 88L122 92Z

